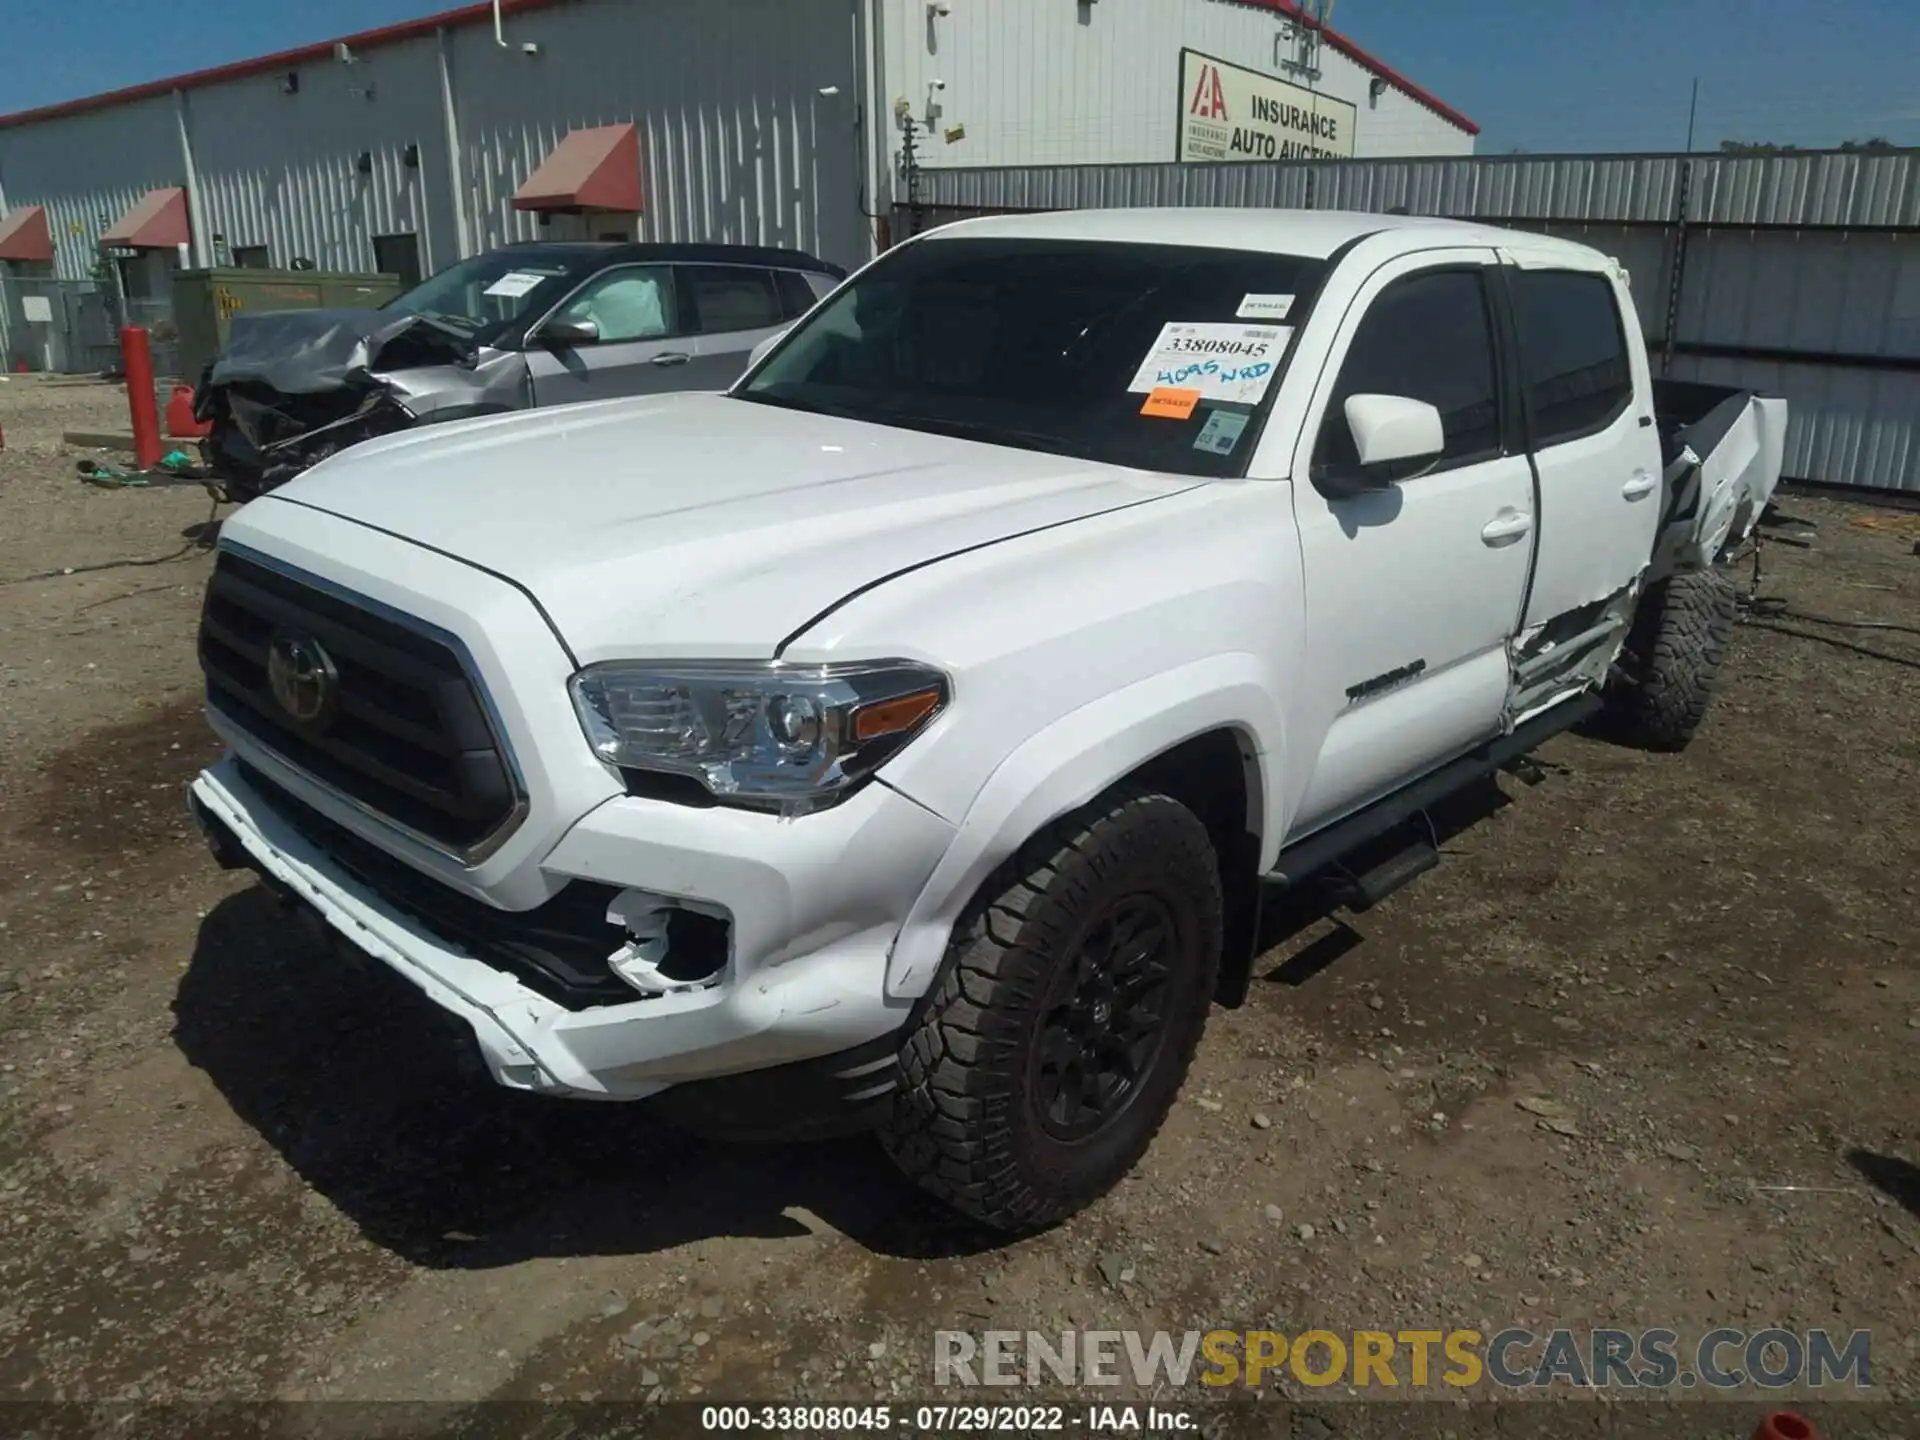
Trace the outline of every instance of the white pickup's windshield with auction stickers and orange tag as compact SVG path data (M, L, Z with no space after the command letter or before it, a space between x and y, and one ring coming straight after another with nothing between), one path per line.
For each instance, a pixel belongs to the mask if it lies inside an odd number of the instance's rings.
M927 238L843 286L733 396L1150 470L1244 474L1294 296L1323 271L1319 259L1204 246Z

